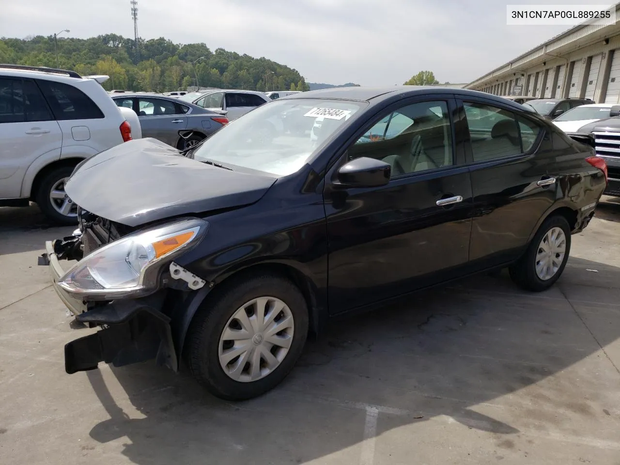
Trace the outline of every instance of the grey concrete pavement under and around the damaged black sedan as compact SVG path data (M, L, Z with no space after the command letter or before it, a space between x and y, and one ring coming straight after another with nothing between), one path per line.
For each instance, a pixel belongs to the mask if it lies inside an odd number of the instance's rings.
M554 288L503 273L311 340L285 383L219 401L153 363L68 375L88 334L37 267L35 206L0 208L0 464L620 464L620 203Z

